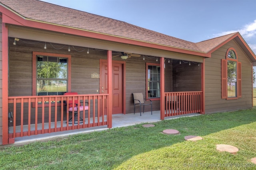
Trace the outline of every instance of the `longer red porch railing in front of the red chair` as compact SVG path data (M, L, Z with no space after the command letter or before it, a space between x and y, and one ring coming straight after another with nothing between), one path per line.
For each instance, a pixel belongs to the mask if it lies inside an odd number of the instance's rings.
M64 101L70 100L80 101L78 108L88 105L88 110L78 111L81 121L69 121L71 117L75 119L74 109L68 111ZM16 137L108 125L108 102L108 94L8 97L8 109L13 113L9 118L9 141L14 142Z

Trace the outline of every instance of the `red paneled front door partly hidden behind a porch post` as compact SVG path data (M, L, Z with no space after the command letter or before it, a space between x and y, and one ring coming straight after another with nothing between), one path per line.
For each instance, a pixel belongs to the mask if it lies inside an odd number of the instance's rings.
M102 62L102 61L101 61ZM100 94L108 93L108 65L100 67ZM123 64L112 63L113 107L112 114L123 113ZM106 106L106 105L105 105ZM106 113L106 112L105 112Z

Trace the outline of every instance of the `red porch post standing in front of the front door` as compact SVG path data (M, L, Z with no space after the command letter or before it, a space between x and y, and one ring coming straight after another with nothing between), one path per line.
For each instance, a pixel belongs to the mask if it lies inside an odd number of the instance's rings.
M108 128L112 128L112 51L108 50Z

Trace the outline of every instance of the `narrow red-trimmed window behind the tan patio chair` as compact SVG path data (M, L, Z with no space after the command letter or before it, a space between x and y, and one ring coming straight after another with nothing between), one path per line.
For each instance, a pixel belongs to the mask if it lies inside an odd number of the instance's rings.
M160 64L147 63L147 98L160 98Z

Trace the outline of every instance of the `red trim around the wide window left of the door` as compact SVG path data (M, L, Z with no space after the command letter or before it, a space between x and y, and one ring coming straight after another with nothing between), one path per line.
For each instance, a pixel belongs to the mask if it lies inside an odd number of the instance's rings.
M37 55L68 58L68 92L70 92L71 91L71 55L33 51L32 52L32 96L36 96L36 56ZM35 107L35 106L36 104L33 102L32 107ZM49 107L49 104L44 104L44 106ZM55 106L55 103L51 103L51 106ZM58 103L57 106L61 106L61 103ZM38 104L38 107L42 107L42 104Z

